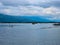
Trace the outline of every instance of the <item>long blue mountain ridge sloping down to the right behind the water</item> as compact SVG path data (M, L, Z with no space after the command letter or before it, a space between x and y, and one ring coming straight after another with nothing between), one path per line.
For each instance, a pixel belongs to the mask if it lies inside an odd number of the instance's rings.
M29 22L52 22L43 16L10 16L0 14L0 22L18 22L18 23L29 23Z

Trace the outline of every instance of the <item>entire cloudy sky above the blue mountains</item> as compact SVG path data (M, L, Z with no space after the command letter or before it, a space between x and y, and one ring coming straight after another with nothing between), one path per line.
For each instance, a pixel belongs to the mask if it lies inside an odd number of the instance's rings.
M0 13L20 15L60 15L60 0L0 0Z

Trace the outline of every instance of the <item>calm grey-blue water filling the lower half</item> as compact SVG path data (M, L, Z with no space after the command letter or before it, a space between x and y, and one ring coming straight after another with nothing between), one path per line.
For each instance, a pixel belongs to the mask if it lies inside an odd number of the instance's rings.
M60 45L60 26L0 23L0 45Z

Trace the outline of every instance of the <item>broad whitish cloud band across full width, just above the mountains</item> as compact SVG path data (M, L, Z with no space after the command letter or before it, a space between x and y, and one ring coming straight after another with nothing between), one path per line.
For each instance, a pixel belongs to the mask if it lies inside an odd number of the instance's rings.
M5 6L3 3L0 3L0 13L21 16L21 15L54 15L57 16L60 14L60 8L48 7L43 8L40 6Z

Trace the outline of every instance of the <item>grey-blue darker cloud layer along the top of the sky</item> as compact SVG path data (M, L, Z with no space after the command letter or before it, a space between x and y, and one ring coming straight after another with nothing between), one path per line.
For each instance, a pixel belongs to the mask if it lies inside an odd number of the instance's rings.
M38 2L33 2L30 3L27 0L0 0L0 2L2 2L4 5L7 6L40 6L40 7L44 7L44 8L48 8L51 6L55 6L55 7L60 7L60 1L58 0L48 0L46 2L39 2L39 0L37 0ZM32 2L32 1L31 1Z

